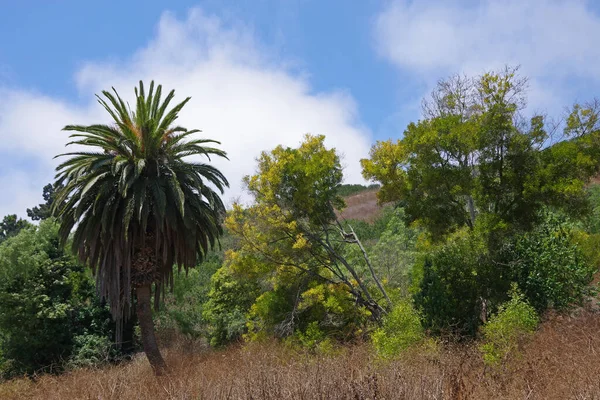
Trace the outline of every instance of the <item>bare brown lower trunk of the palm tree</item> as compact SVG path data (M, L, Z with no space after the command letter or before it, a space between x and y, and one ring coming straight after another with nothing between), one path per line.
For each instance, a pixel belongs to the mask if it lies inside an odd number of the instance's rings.
M158 344L156 343L156 337L154 335L154 322L152 321L152 308L151 308L151 291L150 284L139 286L136 289L137 295L137 317L140 324L140 330L142 332L142 345L144 346L144 353L154 370L154 375L160 376L167 372L167 365L163 360Z

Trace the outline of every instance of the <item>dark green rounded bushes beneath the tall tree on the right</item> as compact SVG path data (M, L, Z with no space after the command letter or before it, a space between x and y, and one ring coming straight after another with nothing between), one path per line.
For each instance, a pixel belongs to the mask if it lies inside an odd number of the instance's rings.
M580 303L597 271L595 235L577 231L566 217L546 212L530 232L506 232L480 219L432 247L413 274L415 304L437 333L474 335L506 299L511 282L537 311Z

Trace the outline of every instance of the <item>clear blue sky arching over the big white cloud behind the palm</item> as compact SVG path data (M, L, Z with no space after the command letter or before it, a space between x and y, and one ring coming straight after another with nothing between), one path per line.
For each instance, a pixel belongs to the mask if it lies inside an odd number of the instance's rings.
M13 2L3 6L8 18L0 25L0 35L14 39L0 43L0 84L81 100L73 75L82 63L126 58L155 34L165 11L185 18L190 8L201 7L225 21L247 24L272 57L296 63L296 73L308 74L316 92L345 89L361 99L363 121L378 131L386 129L381 125L397 110L403 95L395 69L373 47L371 28L381 4L374 0Z

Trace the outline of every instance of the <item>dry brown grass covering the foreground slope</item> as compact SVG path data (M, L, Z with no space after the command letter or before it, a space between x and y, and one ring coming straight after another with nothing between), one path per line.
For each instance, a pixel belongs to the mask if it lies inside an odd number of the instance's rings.
M473 345L382 363L367 345L340 354L298 354L276 343L209 351L165 350L168 377L143 357L97 370L17 379L1 399L599 399L600 314L551 316L503 371L484 367Z

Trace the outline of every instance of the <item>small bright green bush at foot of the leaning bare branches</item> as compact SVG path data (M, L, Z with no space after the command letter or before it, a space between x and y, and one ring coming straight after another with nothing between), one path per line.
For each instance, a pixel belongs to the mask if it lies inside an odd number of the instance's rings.
M373 332L371 340L380 357L392 358L423 341L424 330L419 313L406 300L394 305L383 319L383 325Z

